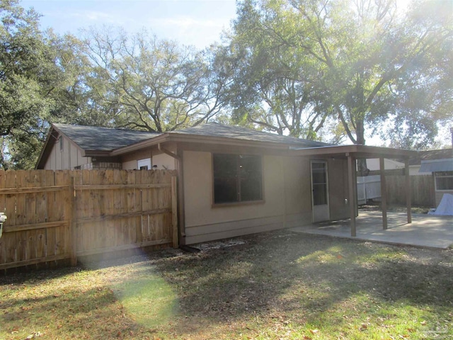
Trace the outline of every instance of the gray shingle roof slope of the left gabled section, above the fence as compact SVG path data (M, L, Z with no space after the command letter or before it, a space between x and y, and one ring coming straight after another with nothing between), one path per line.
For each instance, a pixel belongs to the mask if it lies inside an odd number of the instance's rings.
M67 124L54 124L54 126L81 149L91 151L110 151L162 135L155 132L98 128L96 126Z

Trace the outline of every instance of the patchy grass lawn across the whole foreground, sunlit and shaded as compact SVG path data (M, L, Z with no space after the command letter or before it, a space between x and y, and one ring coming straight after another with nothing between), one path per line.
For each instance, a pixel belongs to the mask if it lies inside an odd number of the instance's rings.
M268 232L0 277L0 339L453 339L453 249Z

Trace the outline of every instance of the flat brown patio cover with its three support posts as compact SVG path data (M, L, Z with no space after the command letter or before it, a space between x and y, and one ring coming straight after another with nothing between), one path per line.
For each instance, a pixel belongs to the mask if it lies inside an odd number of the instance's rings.
M381 172L381 196L382 196L382 227L387 229L387 204L386 204L386 179L384 159L403 159L405 164L404 174L406 177L406 208L408 223L412 222L411 215L411 179L409 177L409 157L416 152L389 147L371 147L367 145L336 145L326 147L293 147L289 150L294 156L326 157L332 159L348 159L348 191L350 204L351 236L356 236L355 217L357 216L357 174L356 159L379 158Z

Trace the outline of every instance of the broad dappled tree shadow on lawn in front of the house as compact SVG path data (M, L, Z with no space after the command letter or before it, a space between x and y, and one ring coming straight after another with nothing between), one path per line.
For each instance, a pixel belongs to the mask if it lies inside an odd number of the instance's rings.
M444 265L437 259L423 263L407 247L287 231L245 239L243 246L157 264L180 292L180 312L189 317L192 331L193 319L222 324L275 311L316 323L321 313L362 295L389 305L453 307L451 253Z

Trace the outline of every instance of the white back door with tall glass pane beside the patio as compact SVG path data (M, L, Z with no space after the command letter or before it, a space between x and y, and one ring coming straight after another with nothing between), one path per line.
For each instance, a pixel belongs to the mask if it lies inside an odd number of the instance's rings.
M329 220L327 162L311 161L313 222Z

